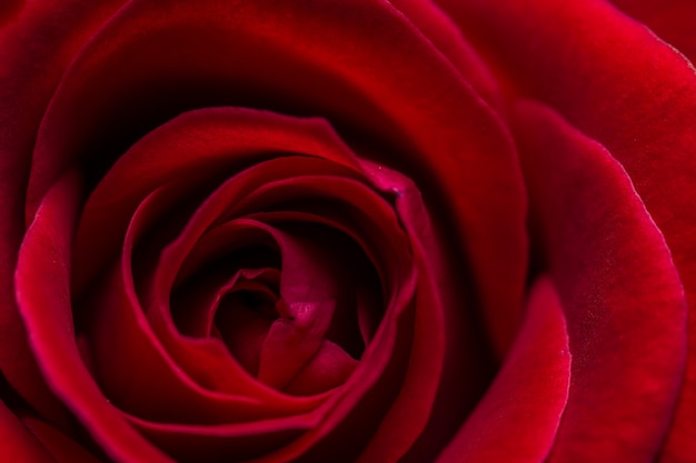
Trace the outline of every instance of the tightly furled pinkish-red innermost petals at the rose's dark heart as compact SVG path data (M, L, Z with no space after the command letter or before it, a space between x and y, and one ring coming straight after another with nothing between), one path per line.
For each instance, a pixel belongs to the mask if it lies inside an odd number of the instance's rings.
M314 375L329 372L332 379L324 383L336 386L339 378L345 380L354 370L365 350L356 293L379 288L378 276L370 270L371 263L360 245L338 230L317 223L275 225L237 219L203 235L202 248L208 252L218 250L215 254L219 262L207 263L213 266L238 266L233 262L235 253L225 255L229 241L221 238L251 236L250 229L256 229L257 241L268 243L268 236L272 236L282 260L279 294L262 281L264 275L276 274L271 270L245 270L247 275L257 278L237 278L233 284L230 282L212 293L215 298L228 290L219 303L211 334L223 340L247 371L278 390L284 390L308 365L314 365ZM247 231L240 233L240 230ZM210 244L218 240L218 245ZM203 262L200 264L206 266ZM360 283L365 276L375 282ZM372 299L381 300L381 296L376 294ZM189 308L190 312L195 310ZM340 316L335 316L338 312ZM210 313L200 316L208 320ZM332 369L325 368L328 359L334 359ZM301 385L295 390L316 387Z

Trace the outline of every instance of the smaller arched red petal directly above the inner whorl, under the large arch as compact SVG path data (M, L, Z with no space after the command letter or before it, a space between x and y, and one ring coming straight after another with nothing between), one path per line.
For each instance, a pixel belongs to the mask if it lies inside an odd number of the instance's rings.
M213 185L271 155L305 153L349 162L342 143L321 119L267 111L209 108L187 112L138 141L90 195L76 239L78 292L116 256L130 217L156 188L177 182L180 197ZM123 185L128 184L125 189ZM99 236L99 245L95 245Z

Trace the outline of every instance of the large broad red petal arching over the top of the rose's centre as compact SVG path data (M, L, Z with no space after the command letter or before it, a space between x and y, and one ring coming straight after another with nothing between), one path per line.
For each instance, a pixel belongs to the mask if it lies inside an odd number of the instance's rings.
M68 165L82 160L99 178L126 145L192 108L322 114L349 142L370 145L417 181L436 215L451 218L453 242L466 243L483 313L504 351L524 288L525 195L504 125L461 83L449 60L384 2L132 1L56 92L37 139L29 211ZM84 123L68 123L74 120Z

